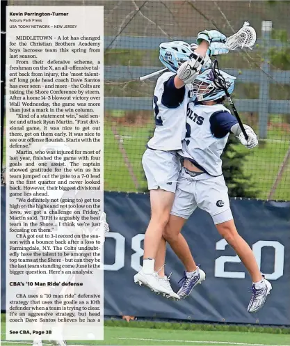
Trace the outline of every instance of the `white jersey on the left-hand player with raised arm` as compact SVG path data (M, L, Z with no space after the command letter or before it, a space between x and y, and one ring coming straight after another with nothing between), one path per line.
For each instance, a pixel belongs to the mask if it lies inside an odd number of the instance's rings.
M168 98L168 95L164 93L164 84L174 75L173 72L165 72L156 82L153 98L156 128L152 139L147 143L150 149L163 151L182 149L182 141L185 137L186 109L190 101L191 88L185 86L182 90L173 91L176 94L184 93L182 102L172 108L166 107L165 97ZM169 97L171 96L169 95Z

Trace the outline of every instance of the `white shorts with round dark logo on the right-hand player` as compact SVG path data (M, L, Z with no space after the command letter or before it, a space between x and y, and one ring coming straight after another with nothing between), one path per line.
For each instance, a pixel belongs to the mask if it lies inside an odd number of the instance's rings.
M232 220L227 190L223 175L211 177L204 173L192 177L182 168L170 214L188 219L200 207L211 215L215 224Z

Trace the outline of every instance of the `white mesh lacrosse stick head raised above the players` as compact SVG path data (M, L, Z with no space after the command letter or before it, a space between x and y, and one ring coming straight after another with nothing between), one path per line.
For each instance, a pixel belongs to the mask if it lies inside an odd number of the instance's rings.
M257 35L255 29L250 26L249 22L245 22L243 27L234 35L229 36L225 42L225 48L235 50L237 48L250 48L255 45Z

